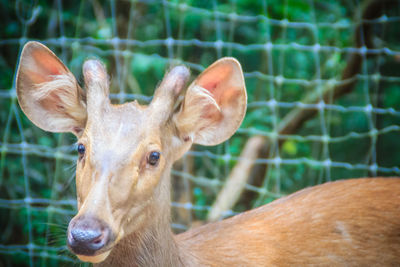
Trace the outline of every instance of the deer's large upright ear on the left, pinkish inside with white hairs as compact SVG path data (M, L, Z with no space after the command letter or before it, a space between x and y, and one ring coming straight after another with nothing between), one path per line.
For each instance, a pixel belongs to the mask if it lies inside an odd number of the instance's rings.
M86 95L74 75L46 46L28 42L17 73L18 102L25 115L50 132L80 136L86 125Z

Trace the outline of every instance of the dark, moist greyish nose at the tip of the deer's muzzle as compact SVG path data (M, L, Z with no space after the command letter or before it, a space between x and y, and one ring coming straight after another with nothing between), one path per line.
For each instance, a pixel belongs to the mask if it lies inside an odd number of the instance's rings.
M68 246L78 255L94 255L110 241L111 230L95 218L77 218L68 227Z

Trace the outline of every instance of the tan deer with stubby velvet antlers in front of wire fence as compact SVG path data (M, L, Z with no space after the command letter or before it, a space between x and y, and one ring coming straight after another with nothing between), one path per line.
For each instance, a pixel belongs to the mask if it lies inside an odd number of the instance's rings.
M230 138L245 115L244 75L222 58L189 86L166 72L148 105L113 104L103 63L82 67L85 90L45 45L30 41L16 76L26 116L77 137L77 214L67 245L95 266L399 266L400 179L317 185L175 235L170 172L192 144Z

